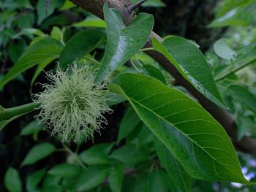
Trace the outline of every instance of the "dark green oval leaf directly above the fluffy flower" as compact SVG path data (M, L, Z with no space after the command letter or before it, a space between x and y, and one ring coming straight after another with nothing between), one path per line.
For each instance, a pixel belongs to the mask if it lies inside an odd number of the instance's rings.
M84 55L94 50L99 43L105 40L105 34L96 29L80 31L75 34L61 52L59 57L60 66L65 69L75 60L83 58Z

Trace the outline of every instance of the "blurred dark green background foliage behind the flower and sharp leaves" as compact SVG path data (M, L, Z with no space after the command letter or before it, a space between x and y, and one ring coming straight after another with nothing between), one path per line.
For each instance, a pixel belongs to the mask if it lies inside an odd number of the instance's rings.
M105 31L103 20L70 1L50 1L48 7L45 0L1 0L0 10L0 80L39 39L53 37L65 44L84 28ZM200 45L236 117L237 139L256 138L255 1L148 0L136 11L153 14L154 31L162 37L175 34ZM104 44L85 59L98 64L103 53ZM138 58L143 64L154 63L146 55ZM54 61L34 66L8 82L0 90L1 105L31 101L30 93L39 91L34 82L45 82L38 70L54 66ZM170 77L165 74L166 78ZM167 174L159 167L152 134L126 102L113 110L101 135L86 142L59 142L36 126L33 113L8 124L0 132L0 180L4 181L0 191L167 191ZM238 155L246 178L255 181L255 156ZM236 183L195 181L192 185L192 191L256 190Z

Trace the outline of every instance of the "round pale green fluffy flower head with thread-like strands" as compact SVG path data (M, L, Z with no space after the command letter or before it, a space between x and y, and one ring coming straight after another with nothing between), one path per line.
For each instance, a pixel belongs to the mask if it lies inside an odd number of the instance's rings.
M88 66L74 64L66 72L57 69L56 74L47 72L50 84L43 84L42 93L34 95L40 112L40 123L60 134L62 141L77 141L86 134L92 136L102 123L108 123L102 115L110 112L106 104L105 85L94 83L94 74Z

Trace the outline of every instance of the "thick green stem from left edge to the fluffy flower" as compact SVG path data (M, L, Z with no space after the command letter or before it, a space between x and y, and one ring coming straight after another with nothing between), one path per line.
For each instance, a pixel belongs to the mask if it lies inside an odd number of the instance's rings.
M7 109L2 108L0 110L0 120L8 120L18 115L25 115L26 113L34 111L37 107L39 107L39 104L32 102L29 104L20 105L18 107Z

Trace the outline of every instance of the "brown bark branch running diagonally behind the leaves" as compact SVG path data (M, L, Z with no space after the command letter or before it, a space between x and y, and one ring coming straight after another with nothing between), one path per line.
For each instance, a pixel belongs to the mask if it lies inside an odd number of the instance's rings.
M124 23L129 23L134 14L129 14L127 9L127 4L123 4L122 1L119 0L70 0L74 4L77 4L78 6L82 7L83 9L86 9L86 11L91 12L94 15L97 15L99 18L104 19L103 15L103 4L105 2L108 2L109 7L116 8L120 10L120 12L123 15ZM152 32L151 37L148 38L148 41L146 42L146 45L144 47L152 47L151 39L153 37L156 37L159 40L162 40L161 37L159 37L157 34ZM197 91L187 80L182 77L182 75L178 72L178 70L173 66L173 64L170 63L170 61L167 61L164 55L161 53L158 53L156 51L148 51L146 52L148 55L150 55L152 58L154 58L160 65L162 65L167 72L170 72L170 74L176 79L176 82L178 85L183 86L184 88L189 91L189 93L192 93L193 96L200 102L200 104L204 107L205 110L207 110L216 120L219 121L219 123L222 124L222 126L227 131L227 134L229 134L230 138L232 139L233 145L238 150L241 150L246 153L256 154L256 140L249 138L249 137L243 137L240 142L237 142L236 140L236 120L233 118L232 115L230 115L227 110L224 110L220 107L218 107L216 104L212 103L208 99L206 99L205 96L203 96L199 91Z

